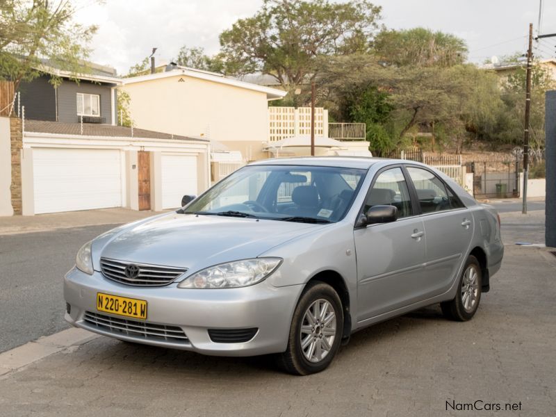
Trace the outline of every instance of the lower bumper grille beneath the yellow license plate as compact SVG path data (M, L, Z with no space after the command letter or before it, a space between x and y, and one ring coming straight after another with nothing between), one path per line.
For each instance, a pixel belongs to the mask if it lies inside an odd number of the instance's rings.
M88 325L112 334L123 334L133 338L147 341L168 341L173 343L189 344L183 330L177 326L155 325L125 318L114 318L99 313L85 311L83 317Z

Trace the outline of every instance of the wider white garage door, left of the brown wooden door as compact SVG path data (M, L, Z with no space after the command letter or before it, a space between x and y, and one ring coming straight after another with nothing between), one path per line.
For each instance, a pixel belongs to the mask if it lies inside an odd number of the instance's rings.
M122 206L122 161L112 149L33 149L35 213Z

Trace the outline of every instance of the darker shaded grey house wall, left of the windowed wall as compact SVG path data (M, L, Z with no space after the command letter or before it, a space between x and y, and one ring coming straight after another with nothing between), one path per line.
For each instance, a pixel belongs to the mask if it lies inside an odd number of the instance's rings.
M31 120L56 121L56 95L54 87L43 75L30 83L19 84L21 105L25 106L25 118Z

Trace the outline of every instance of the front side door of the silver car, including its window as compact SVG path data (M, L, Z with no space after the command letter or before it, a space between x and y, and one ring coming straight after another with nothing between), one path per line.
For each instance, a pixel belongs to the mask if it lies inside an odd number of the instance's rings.
M377 205L398 207L398 220L354 230L357 252L357 320L399 309L422 296L425 235L400 167L377 174L362 213Z

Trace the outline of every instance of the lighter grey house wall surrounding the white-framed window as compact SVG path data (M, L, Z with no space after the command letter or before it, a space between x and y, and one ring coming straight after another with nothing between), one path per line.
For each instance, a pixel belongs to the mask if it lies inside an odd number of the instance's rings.
M79 122L77 117L78 92L100 95L100 116L104 117L104 123L112 123L111 88L108 85L95 84L89 81L81 81L78 85L70 80L64 80L58 87L58 122Z

